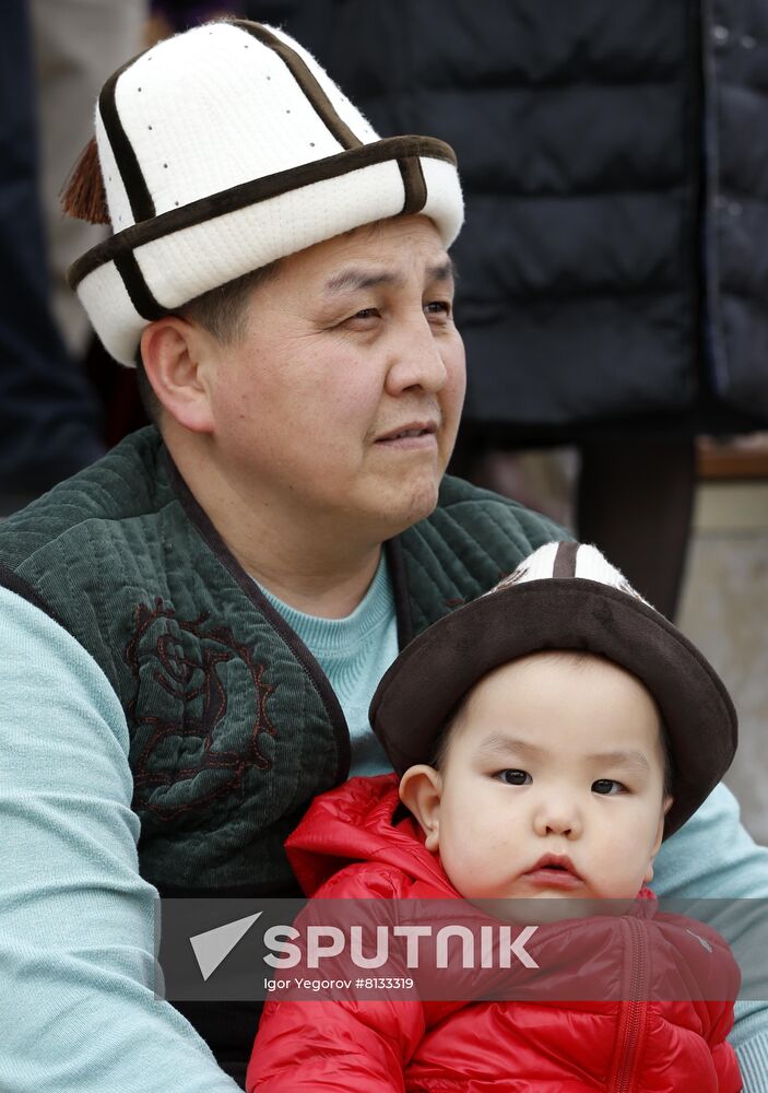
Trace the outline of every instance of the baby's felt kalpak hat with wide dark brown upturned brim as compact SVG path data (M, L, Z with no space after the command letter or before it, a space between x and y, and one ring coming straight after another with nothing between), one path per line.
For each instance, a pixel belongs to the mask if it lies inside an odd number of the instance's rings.
M446 721L487 672L543 649L621 665L655 700L673 763L677 831L731 765L737 722L711 665L595 546L546 543L480 599L415 638L381 680L370 724L398 774L433 760Z

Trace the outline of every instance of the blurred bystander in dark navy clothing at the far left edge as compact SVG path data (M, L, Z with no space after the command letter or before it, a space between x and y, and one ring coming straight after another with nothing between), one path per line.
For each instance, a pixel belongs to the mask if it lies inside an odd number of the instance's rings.
M51 309L26 2L0 35L0 517L104 454L96 400ZM66 169L69 169L67 165Z

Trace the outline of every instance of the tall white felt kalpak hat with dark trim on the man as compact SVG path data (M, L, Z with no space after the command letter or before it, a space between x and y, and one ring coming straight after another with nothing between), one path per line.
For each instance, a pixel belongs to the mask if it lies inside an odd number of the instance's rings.
M69 282L128 366L153 319L277 258L399 213L429 216L448 247L463 220L448 144L379 140L298 43L245 20L119 69L96 141L116 234Z

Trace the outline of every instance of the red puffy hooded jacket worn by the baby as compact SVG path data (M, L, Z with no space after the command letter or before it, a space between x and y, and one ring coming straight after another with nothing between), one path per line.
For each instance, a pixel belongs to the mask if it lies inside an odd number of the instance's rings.
M393 775L355 778L317 798L286 843L305 892L458 898L416 822L405 816L392 824L398 804ZM660 997L682 1001L622 1000L624 995L607 1002L270 1001L248 1093L736 1093L739 1066L725 1041L732 1002L702 1001L716 979L692 973L717 965L717 982L724 976L735 997L735 963L713 931L696 925L692 932L685 919L658 918L653 963L664 965L665 982L672 972L675 984L689 988L687 996L677 987ZM612 929L594 960L602 962L601 974L607 961L610 977L623 984L637 957L617 942L616 920ZM701 963L701 947L711 954L709 965Z

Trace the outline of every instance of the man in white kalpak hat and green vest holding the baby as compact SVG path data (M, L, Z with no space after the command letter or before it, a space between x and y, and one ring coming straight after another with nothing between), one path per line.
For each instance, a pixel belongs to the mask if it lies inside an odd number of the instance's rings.
M159 432L0 529L0 1085L210 1093L233 1083L152 995L153 885L295 891L309 800L385 768L365 712L398 645L559 532L440 484L464 378L446 145L379 141L237 22L116 73L96 128L68 202L103 218L103 180L116 235L72 280L118 360L141 346ZM667 888L768 892L723 795ZM190 1015L241 1078L255 1014Z

